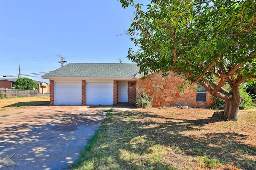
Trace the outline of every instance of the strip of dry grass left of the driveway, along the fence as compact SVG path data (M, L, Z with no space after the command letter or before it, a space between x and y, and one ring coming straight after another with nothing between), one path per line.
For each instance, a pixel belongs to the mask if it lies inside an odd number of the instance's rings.
M28 107L49 105L49 96L33 96L33 97L18 97L18 98L1 98L0 99L0 111Z

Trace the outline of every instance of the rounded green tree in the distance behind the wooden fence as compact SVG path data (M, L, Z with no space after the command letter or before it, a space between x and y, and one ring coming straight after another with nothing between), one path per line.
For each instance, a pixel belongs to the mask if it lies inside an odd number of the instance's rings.
M33 88L37 89L37 84L30 78L18 78L13 87L16 89L33 90Z

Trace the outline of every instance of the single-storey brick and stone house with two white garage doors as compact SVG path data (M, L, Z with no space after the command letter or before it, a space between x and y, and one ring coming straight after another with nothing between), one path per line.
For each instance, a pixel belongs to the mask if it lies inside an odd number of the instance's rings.
M204 89L196 92L193 84L180 93L176 85L185 80L152 73L141 79L137 64L70 63L42 76L50 80L50 105L113 105L134 103L136 88L151 97L154 107L190 106L210 107L213 100Z

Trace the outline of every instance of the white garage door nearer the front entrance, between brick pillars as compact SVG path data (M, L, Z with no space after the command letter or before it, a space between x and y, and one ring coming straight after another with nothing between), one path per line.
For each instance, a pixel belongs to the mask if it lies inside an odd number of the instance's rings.
M86 104L113 104L113 82L87 82Z

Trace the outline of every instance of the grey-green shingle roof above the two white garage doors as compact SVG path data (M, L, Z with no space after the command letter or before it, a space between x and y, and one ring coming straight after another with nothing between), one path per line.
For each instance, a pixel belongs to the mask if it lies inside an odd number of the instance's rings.
M69 63L43 77L131 77L139 72L137 64Z

